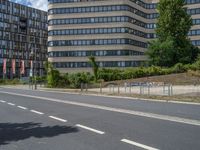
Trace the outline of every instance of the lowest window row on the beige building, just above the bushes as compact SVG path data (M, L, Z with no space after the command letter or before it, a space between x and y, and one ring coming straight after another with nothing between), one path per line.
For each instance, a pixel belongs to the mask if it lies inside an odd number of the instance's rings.
M138 67L142 61L103 61L97 62L99 67ZM89 62L54 62L55 68L91 68Z

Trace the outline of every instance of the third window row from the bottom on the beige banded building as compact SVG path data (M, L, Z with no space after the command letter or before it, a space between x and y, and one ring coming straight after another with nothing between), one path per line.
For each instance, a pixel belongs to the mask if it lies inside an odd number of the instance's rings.
M147 43L132 39L94 39L94 40L62 40L49 41L48 46L92 46L92 45L120 45L129 44L138 47L147 47Z

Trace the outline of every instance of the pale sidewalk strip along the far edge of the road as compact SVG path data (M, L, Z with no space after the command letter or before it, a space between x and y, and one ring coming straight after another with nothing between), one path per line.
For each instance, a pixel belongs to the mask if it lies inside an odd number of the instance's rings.
M7 88L17 88L24 90L32 90L32 87L29 88L29 85L5 85L0 87ZM198 92L196 94L192 94L192 96L184 94L185 91L190 91L193 87L197 88ZM91 96L102 96L102 97L113 97L120 99L133 99L133 100L144 100L144 101L159 101L159 102L171 102L171 103L183 103L183 104L192 104L192 105L200 105L200 86L177 86L179 92L182 95L178 96L151 96L151 95L140 95L140 94L128 94L128 93L109 93L102 92L100 93L100 89L88 89L88 91L81 92L81 89L61 89L61 88L45 88L37 86L38 91L46 91L46 92L60 92L60 93L69 93L69 94L82 94L82 95L91 95ZM184 89L184 90L183 90ZM34 90L34 89L33 89ZM102 90L103 91L103 90ZM191 94L191 93L190 93ZM195 95L195 96L194 96Z

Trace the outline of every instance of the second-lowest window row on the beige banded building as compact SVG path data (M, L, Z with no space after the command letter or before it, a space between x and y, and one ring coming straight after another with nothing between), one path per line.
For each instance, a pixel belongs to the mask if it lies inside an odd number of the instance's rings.
M86 56L138 56L144 52L134 50L96 50L96 51L55 51L49 57L86 57Z

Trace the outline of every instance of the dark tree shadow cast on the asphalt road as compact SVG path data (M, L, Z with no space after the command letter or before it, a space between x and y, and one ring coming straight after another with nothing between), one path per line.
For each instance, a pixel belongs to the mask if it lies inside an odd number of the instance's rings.
M28 139L30 137L53 137L60 134L78 132L71 126L41 126L41 123L0 123L0 145L9 144L12 141Z

